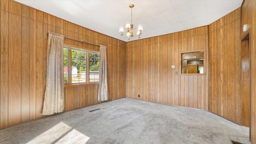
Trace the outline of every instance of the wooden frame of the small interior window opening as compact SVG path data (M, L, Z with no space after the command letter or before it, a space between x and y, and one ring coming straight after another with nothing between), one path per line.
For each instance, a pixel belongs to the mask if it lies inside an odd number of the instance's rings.
M190 60L190 59L196 60L196 59L197 59L197 58L182 59L182 54L190 53L190 52L201 52L201 51L204 52L204 57L202 57L203 60L204 60L204 62L203 62L204 73L203 73L203 74L200 74L200 73L182 74L182 60ZM200 58L200 59L202 59L202 58ZM199 59L199 58L198 58L198 59ZM180 52L180 55L179 55L179 70L180 70L180 75L206 75L206 49L190 50L190 51Z

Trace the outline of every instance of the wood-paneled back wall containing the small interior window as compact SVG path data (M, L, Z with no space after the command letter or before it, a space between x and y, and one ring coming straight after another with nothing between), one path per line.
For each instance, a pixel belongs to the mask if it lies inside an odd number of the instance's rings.
M179 71L180 52L205 49L208 55L208 26L127 42L126 48L126 97L208 110L208 56L206 75Z

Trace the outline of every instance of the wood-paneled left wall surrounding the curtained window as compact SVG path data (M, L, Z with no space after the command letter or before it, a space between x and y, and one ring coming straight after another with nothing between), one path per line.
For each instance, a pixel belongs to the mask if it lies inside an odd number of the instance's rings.
M42 117L48 31L107 46L109 100L125 97L126 42L12 0L1 0L0 9L0 128ZM65 87L64 92L65 111L98 103L98 84Z

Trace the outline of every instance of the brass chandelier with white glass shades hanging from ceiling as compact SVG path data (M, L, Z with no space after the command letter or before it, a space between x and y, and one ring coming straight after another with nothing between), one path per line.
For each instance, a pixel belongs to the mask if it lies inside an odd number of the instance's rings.
M126 28L126 36L127 39L130 40L130 38L132 38L133 36L138 36L138 38L140 38L140 35L142 34L142 30L143 30L143 25L139 24L138 25L138 30L136 35L134 35L134 30L136 29L135 26L133 26L132 24L132 8L134 7L134 4L130 4L129 7L131 8L131 22L126 22L125 28ZM119 32L120 35L122 36L124 34L124 27L120 26L119 27Z

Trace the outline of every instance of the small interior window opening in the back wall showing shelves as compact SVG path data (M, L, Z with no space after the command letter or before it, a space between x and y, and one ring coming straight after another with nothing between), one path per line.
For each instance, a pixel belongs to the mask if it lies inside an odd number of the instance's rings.
M205 74L205 50L194 50L180 53L181 74L202 75Z

